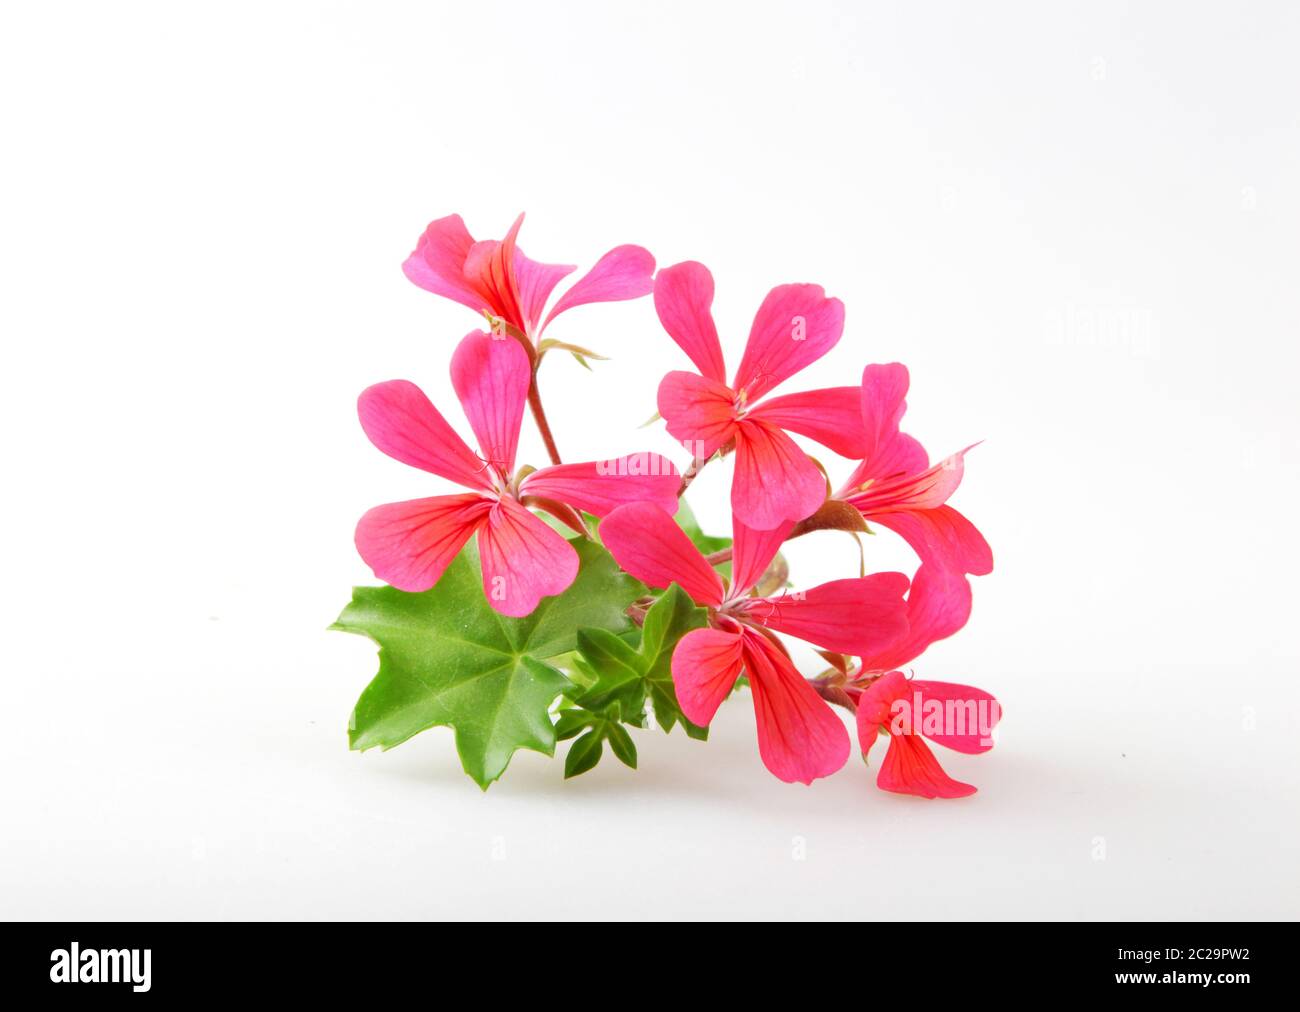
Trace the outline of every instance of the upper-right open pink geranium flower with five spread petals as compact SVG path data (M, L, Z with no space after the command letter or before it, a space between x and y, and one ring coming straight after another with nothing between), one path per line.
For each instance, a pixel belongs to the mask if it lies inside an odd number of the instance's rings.
M659 384L659 414L697 460L734 441L732 511L770 531L811 515L826 499L826 477L786 434L797 432L845 457L862 455L861 393L855 386L762 398L835 347L844 303L820 285L780 285L767 293L745 355L727 384L712 317L714 278L703 264L664 268L654 304L664 330L699 369L670 372Z

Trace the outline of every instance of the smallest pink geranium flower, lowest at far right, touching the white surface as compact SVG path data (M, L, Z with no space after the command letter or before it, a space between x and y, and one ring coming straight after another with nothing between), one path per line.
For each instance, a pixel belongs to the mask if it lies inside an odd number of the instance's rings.
M931 643L950 636L970 617L971 592L953 570L922 566L907 593L907 635L862 658L848 693L857 700L858 744L866 756L881 731L889 735L876 786L919 797L966 797L968 783L954 780L922 738L970 754L993 747L989 736L1001 718L997 700L984 689L952 682L907 679L896 669L915 659Z

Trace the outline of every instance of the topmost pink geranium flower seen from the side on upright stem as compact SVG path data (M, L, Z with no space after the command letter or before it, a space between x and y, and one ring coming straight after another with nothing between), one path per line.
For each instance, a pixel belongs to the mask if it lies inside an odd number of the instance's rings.
M590 302L619 302L654 289L654 258L640 246L615 246L560 297L543 319L562 278L577 268L529 260L516 246L520 215L504 239L474 241L460 215L429 224L402 271L411 281L510 324L534 342L556 316Z

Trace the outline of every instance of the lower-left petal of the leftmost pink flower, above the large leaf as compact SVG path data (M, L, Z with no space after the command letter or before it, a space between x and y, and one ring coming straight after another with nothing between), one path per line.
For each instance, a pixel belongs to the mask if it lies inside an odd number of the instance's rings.
M376 506L356 526L356 550L399 591L428 591L491 510L482 496L436 496Z

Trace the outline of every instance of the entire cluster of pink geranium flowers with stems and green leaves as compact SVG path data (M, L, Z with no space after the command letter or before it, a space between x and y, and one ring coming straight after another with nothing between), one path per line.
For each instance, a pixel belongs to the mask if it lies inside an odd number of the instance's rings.
M471 552L482 601L506 617L499 622L520 620L524 628L541 620L546 602L573 600L573 627L554 633L554 652L511 671L511 679L540 679L532 688L547 686L542 704L552 705L540 718L536 708L524 714L520 704L515 715L530 726L517 740L482 743L488 752L504 749L500 769L514 748L554 749L556 738L580 732L567 764L571 775L594 764L602 741L634 765L624 726L645 726L647 706L666 730L677 719L703 736L722 702L748 684L759 756L781 780L811 783L845 765L852 741L832 709L841 706L855 715L864 758L878 738L888 739L876 778L880 788L922 797L974 793L944 773L923 739L965 753L987 751L1000 717L997 701L970 686L904 674L930 644L965 626L971 610L967 578L993 567L983 536L948 502L970 447L931 464L922 445L900 429L909 386L900 364L867 366L852 386L772 395L844 333L844 304L819 285L780 285L767 294L728 380L711 310L714 278L703 264L680 263L655 274L646 250L619 246L547 311L555 287L575 268L525 256L517 245L521 222L523 216L500 241L474 241L459 216L439 219L403 264L421 289L485 320L451 355L452 388L477 449L406 380L368 388L358 406L361 427L380 450L464 489L367 513L356 528L356 548L376 576L396 592L432 594L432 604L448 567ZM599 356L543 334L577 306L651 293L663 329L694 366L668 372L658 386L659 415L690 451L689 462L679 472L671 460L641 451L563 463L542 406L538 367L556 349L584 364ZM525 410L537 423L549 466L517 467ZM858 463L832 492L823 464L792 434ZM711 545L679 514L682 493L706 464L728 457L734 460L732 537L714 539L724 546L706 552ZM919 563L910 579L863 571L790 588L779 554L785 541L815 531L857 536L870 531L868 524L896 532L911 546ZM861 545L853 550L855 562L859 552ZM602 593L629 600L582 597L580 571L594 571L602 558L610 579L618 580L607 587L624 588ZM675 618L664 618L679 598ZM578 617L580 604L589 618ZM460 620L455 615L462 613L451 614ZM471 619L463 622L458 632L469 639ZM634 646L640 624L645 630ZM447 635L439 628L429 633L433 659L424 658L426 663L438 662L437 637ZM815 646L827 667L806 678L784 636ZM511 643L519 661L526 632ZM528 687L503 682L500 699L486 692L480 699L469 695L468 667L456 670L469 662L460 654L442 662L443 669L412 684L443 688L429 688L429 700L403 697L395 706L406 708L402 714L428 710L411 734L433 723L454 726L464 758L474 728L489 723L499 732L499 714L524 699ZM452 691L465 693L458 712L447 702ZM481 782L493 778L485 774Z

